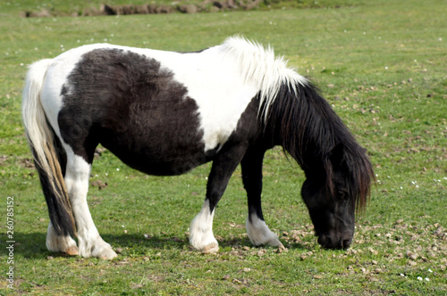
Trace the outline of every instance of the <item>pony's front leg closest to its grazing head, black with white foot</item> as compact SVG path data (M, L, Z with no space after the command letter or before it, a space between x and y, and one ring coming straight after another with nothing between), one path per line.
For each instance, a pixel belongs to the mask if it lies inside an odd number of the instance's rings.
M241 161L242 182L249 200L249 216L246 228L249 240L254 245L282 247L283 243L266 225L261 207L262 161L265 151L249 151Z

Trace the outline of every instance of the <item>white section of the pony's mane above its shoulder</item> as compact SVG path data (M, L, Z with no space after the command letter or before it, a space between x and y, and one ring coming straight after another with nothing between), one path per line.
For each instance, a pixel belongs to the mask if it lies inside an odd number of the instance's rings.
M283 56L275 57L273 48L266 48L244 37L229 37L223 42L223 49L240 62L245 83L257 87L260 93L258 116L267 118L268 109L274 103L279 87L287 85L298 93L297 85L305 85L307 79L287 66Z

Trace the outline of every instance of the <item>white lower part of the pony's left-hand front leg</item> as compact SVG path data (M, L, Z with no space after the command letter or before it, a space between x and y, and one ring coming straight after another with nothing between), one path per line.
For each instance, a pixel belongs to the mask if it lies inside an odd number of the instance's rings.
M213 234L213 218L215 211L210 212L209 201L205 201L202 210L191 222L190 244L204 253L216 253L219 251L219 243Z

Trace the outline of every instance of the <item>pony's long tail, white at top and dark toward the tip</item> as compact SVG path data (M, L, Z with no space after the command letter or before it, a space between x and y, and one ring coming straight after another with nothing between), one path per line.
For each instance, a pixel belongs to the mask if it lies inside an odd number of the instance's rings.
M49 126L40 102L46 70L51 62L42 60L30 65L23 89L21 116L55 234L76 235L72 205L61 169L61 165L65 168L66 160L60 141Z

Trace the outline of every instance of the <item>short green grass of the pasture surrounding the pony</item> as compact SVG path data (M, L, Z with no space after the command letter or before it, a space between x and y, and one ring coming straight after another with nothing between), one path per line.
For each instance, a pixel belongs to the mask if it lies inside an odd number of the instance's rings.
M7 9L2 4L0 19L0 215L5 234L6 198L13 196L13 293L447 291L447 9L442 1L352 1L339 9L43 19L17 18L29 2L9 3ZM81 259L46 251L46 204L20 119L26 65L89 43L190 51L219 44L233 34L274 45L276 53L322 88L358 142L367 147L378 181L367 213L358 218L350 250L318 246L299 196L304 176L275 149L265 160L263 202L266 222L280 234L286 251L249 243L240 169L215 215L221 251L203 255L190 250L187 232L201 207L210 165L181 177L150 177L125 167L110 152L94 163L89 206L105 241L121 249L118 259ZM95 181L107 186L98 189ZM5 275L10 264L7 238L2 235L0 240L0 294L6 294L12 292Z

